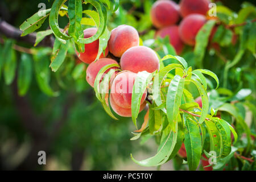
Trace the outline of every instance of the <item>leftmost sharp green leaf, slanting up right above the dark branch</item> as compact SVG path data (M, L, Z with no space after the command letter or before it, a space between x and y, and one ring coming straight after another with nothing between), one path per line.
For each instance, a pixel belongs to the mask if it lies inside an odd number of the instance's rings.
M26 21L24 21L19 26L19 29L22 31L21 36L30 34L31 32L34 32L35 30L40 28L44 23L44 20L46 20L46 18L48 17L50 11L51 9L38 11L37 13L32 15L30 18L28 18ZM44 16L42 16L43 13L45 13Z

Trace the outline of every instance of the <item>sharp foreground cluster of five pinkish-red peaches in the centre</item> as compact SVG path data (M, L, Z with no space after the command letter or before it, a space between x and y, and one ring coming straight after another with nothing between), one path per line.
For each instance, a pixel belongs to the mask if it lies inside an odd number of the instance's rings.
M87 28L84 30L84 38L89 38L96 32L97 28ZM79 59L89 64L86 69L86 81L94 87L94 81L101 68L109 64L119 64L121 71L115 71L110 79L110 105L118 115L131 117L131 94L137 73L142 71L152 73L159 69L158 56L151 48L139 46L137 30L127 25L121 25L112 30L105 55L102 53L100 59L94 61L98 46L99 40L96 40L85 44L85 52L77 52ZM120 60L119 63L118 60ZM117 67L106 70L105 74L111 69L117 70ZM142 96L140 111L146 106L146 96L147 90Z

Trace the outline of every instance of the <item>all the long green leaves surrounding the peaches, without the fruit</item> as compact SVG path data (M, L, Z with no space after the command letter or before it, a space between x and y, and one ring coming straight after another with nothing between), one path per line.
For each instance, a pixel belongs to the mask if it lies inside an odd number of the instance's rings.
M246 156L255 160L256 23L251 21L256 16L255 6L243 3L242 9L235 13L219 3L218 18L209 20L200 29L196 36L195 49L186 46L181 56L177 56L168 39L154 39L154 30L150 22L152 1L133 1L135 10L131 12L127 9L126 3L123 1L119 4L117 1L109 0L69 0L67 3L65 0L55 0L51 9L46 10L45 16L38 16L37 13L32 15L20 26L20 30L23 31L22 36L38 30L49 18L51 30L38 31L36 44L45 36L53 34L56 38L53 49L31 48L33 56L22 53L17 67L18 61L12 48L14 42L6 39L1 57L8 59L0 60L0 71L3 72L5 84L10 85L13 82L17 68L20 96L28 92L33 74L40 90L48 96L59 96L61 91L55 91L59 88L81 93L87 89L83 74L86 66L84 63L75 64L72 56L75 49L78 52L84 52L85 43L92 43L99 39L98 59L108 44L109 27L130 24L138 31L148 30L141 39L144 46L155 49L159 57L162 57L159 60L161 67L159 71L153 73L139 72L135 80L134 85L141 90L140 93L135 92L134 86L131 99L132 120L137 130L139 101L146 88L149 109L148 117L144 119L144 127L139 132L134 131L132 140L155 137L159 147L156 155L151 158L138 161L131 155L131 159L141 166L160 166L173 159L176 169L187 165L190 170L196 170L200 164L201 155L205 154L210 158L210 151L215 151L217 164L213 165L213 169L255 170L255 162L248 163L245 158L241 158ZM83 6L86 10L83 10ZM139 7L143 7L144 12L139 11ZM59 27L60 14L64 16L68 14L69 23L64 29ZM242 26L233 26L243 22L245 24ZM214 48L209 43L210 32L216 24L220 26L212 43L218 43L219 48ZM98 28L97 33L84 39L82 30L92 25ZM232 44L233 32L237 36L237 42L234 44ZM51 61L49 54L52 54ZM56 73L52 74L48 67ZM109 72L100 84L101 74L112 67L119 67L119 65L107 65L98 72L94 91L106 113L113 119L117 119L108 105L109 89L101 92L103 89L101 85L109 85L109 78L113 72ZM52 77L56 84L50 84ZM50 85L58 86L52 88ZM195 102L194 98L198 96L201 97L202 107ZM79 102L71 118L78 117L77 115L90 115L89 110L81 110L82 107L84 104ZM250 125L246 123L248 110L253 113ZM93 116L92 121L96 121L97 119ZM105 120L105 118L101 119ZM101 119L98 119L98 122L101 123ZM79 120L73 119L73 121ZM76 125L80 126L80 123L69 122L63 130L67 130L67 133L73 127L79 130ZM90 129L93 127L94 125ZM121 125L116 127L117 130L122 130ZM106 131L108 129L108 125L102 126L101 123L96 131L88 130L85 132L86 135L84 130L77 131L77 135L81 136L79 143L89 142L88 138L92 136L100 138L97 142L104 142L104 139L108 138L109 133ZM104 131L104 134L96 134L97 130ZM69 141L73 140L73 135L75 134L68 135ZM66 140L64 135L61 136L60 141ZM110 135L109 138L111 137L114 138ZM121 143L122 137L120 134L118 138ZM185 144L187 151L187 161L184 162L187 164L178 162L180 157L177 154L182 143ZM72 142L67 145L71 147ZM93 158L101 156L100 151L92 150L98 152L93 155ZM225 166L226 164L229 164L228 167Z

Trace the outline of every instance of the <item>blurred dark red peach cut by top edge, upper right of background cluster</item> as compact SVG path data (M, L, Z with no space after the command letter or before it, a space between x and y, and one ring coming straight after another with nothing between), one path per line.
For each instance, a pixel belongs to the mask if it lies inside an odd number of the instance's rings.
M180 2L180 14L185 17L190 14L206 15L209 10L208 0L181 0Z

